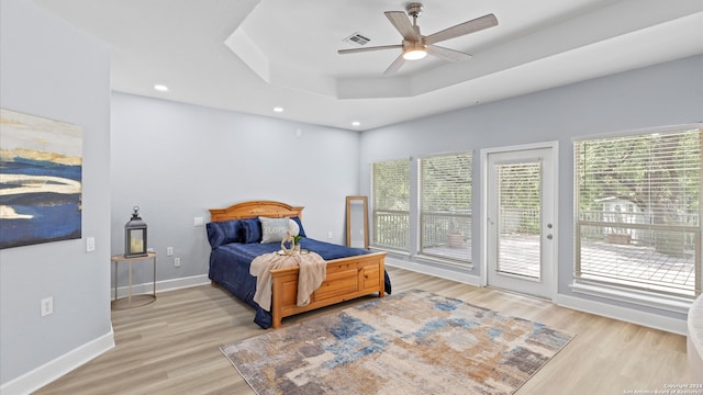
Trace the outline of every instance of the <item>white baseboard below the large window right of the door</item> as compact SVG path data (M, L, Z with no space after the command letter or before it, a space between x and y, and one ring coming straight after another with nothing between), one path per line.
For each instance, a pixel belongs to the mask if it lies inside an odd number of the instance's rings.
M559 306L579 312L595 314L625 323L637 324L654 329L687 336L685 319L665 317L658 314L645 313L633 308L614 306L606 303L589 301L582 297L563 294L558 294L555 303Z

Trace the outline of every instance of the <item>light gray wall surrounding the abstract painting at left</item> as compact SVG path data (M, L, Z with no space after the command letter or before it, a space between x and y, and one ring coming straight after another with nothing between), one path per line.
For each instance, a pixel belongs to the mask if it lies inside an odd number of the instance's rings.
M112 343L110 58L107 47L29 0L0 5L0 105L79 125L82 235L0 250L0 383L99 338ZM96 237L86 252L85 238ZM40 301L54 297L54 314Z

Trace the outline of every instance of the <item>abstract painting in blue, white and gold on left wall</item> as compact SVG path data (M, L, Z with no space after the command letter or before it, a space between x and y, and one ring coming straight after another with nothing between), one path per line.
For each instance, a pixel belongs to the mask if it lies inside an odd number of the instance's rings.
M0 249L81 237L82 132L0 109Z

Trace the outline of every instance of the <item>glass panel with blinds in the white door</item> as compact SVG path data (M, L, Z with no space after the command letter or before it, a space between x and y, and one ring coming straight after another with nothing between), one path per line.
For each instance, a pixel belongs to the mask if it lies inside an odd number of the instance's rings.
M542 162L495 166L498 271L540 279Z

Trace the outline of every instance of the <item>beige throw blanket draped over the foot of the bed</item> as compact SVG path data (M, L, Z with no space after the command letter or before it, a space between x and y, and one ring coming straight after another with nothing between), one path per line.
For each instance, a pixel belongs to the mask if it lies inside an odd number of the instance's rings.
M312 293L322 285L327 275L327 262L315 252L292 256L278 252L256 257L249 267L249 273L256 276L254 302L267 312L271 309L271 269L299 267L298 305L306 306Z

